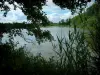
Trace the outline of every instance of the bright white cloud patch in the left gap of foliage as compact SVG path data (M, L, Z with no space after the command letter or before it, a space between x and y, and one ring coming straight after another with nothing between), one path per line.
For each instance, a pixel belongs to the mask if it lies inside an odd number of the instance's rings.
M22 13L20 9L11 10L8 12L7 16L4 17L3 13L0 14L0 22L23 22L26 21L26 16Z

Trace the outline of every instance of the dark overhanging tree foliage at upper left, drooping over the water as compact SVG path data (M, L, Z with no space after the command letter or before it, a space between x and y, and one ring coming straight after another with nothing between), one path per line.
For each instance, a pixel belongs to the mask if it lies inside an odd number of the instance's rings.
M8 5L6 4L8 2ZM49 31L42 31L39 26L47 25L49 23L46 14L42 11L42 6L46 3L46 0L0 0L0 11L4 12L6 17L7 12L10 11L9 4L14 6L14 9L19 8L27 16L27 20L31 24L27 23L14 23L14 24L0 24L0 35L3 33L21 34L22 29L27 29L29 33L35 34L36 38L41 41L43 39L51 38ZM11 35L11 37L12 37ZM47 36L48 35L48 36Z

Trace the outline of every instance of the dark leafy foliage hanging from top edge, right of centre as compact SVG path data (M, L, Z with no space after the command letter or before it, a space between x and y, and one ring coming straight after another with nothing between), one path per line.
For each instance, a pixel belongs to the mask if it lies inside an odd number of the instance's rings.
M82 11L83 6L86 6L88 2L91 2L91 0L53 0L53 2L61 8L68 8L72 10L74 13L76 9L80 9Z

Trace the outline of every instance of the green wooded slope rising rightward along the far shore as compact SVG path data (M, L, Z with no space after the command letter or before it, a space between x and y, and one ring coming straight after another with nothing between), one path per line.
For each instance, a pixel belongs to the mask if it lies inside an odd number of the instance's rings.
M71 19L62 19L58 24L64 26L76 25L77 27L82 27L85 24L86 27L93 27L96 23L97 14L100 16L100 8L98 8L97 4L94 3L92 6L87 8L85 12L80 13Z

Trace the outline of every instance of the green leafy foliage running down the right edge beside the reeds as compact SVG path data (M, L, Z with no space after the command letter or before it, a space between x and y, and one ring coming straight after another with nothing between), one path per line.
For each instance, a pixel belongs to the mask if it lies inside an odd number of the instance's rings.
M97 68L97 75L100 74L100 4L94 3L85 13L72 18L72 25L86 28L86 39L90 49L94 52L93 61ZM88 34L88 35L87 35Z

